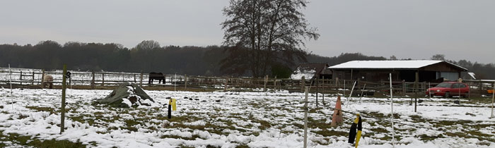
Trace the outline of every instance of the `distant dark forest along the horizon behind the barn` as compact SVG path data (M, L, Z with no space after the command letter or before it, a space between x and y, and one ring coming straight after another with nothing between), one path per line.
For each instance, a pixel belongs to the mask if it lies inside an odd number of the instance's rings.
M187 75L226 75L219 69L220 61L227 55L223 47L161 47L158 42L144 41L132 49L115 43L67 42L59 44L43 41L36 45L0 44L0 67L61 69L67 64L69 70L115 71L144 73L161 72ZM425 59L438 59L439 55ZM449 61L440 55L441 59ZM338 56L307 54L306 61L295 63L328 63L330 66L354 60L397 60L395 56L365 56L360 53L345 53ZM410 59L403 59L410 60ZM474 72L478 79L495 79L494 63L477 63L467 60L449 61ZM292 66L287 68L293 70Z

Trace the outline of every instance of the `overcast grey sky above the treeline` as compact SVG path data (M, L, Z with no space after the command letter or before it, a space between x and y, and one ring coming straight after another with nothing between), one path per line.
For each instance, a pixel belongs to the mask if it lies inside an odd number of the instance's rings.
M219 45L228 0L0 1L0 44L115 42ZM306 49L321 56L371 56L495 63L494 0L318 0L304 10L320 39Z

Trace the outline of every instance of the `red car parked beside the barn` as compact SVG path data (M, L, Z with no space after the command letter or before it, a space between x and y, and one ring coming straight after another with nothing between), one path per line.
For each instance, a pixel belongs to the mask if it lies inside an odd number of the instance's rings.
M442 96L445 98L452 96L467 97L470 87L463 82L442 82L433 88L426 90L426 95Z

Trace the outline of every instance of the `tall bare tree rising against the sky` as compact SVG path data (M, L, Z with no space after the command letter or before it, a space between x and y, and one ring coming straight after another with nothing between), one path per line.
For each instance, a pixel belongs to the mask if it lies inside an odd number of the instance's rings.
M269 73L273 63L290 66L295 59L305 61L304 41L320 36L301 12L307 4L306 0L231 0L223 8L228 57L221 61L221 69L258 78Z

